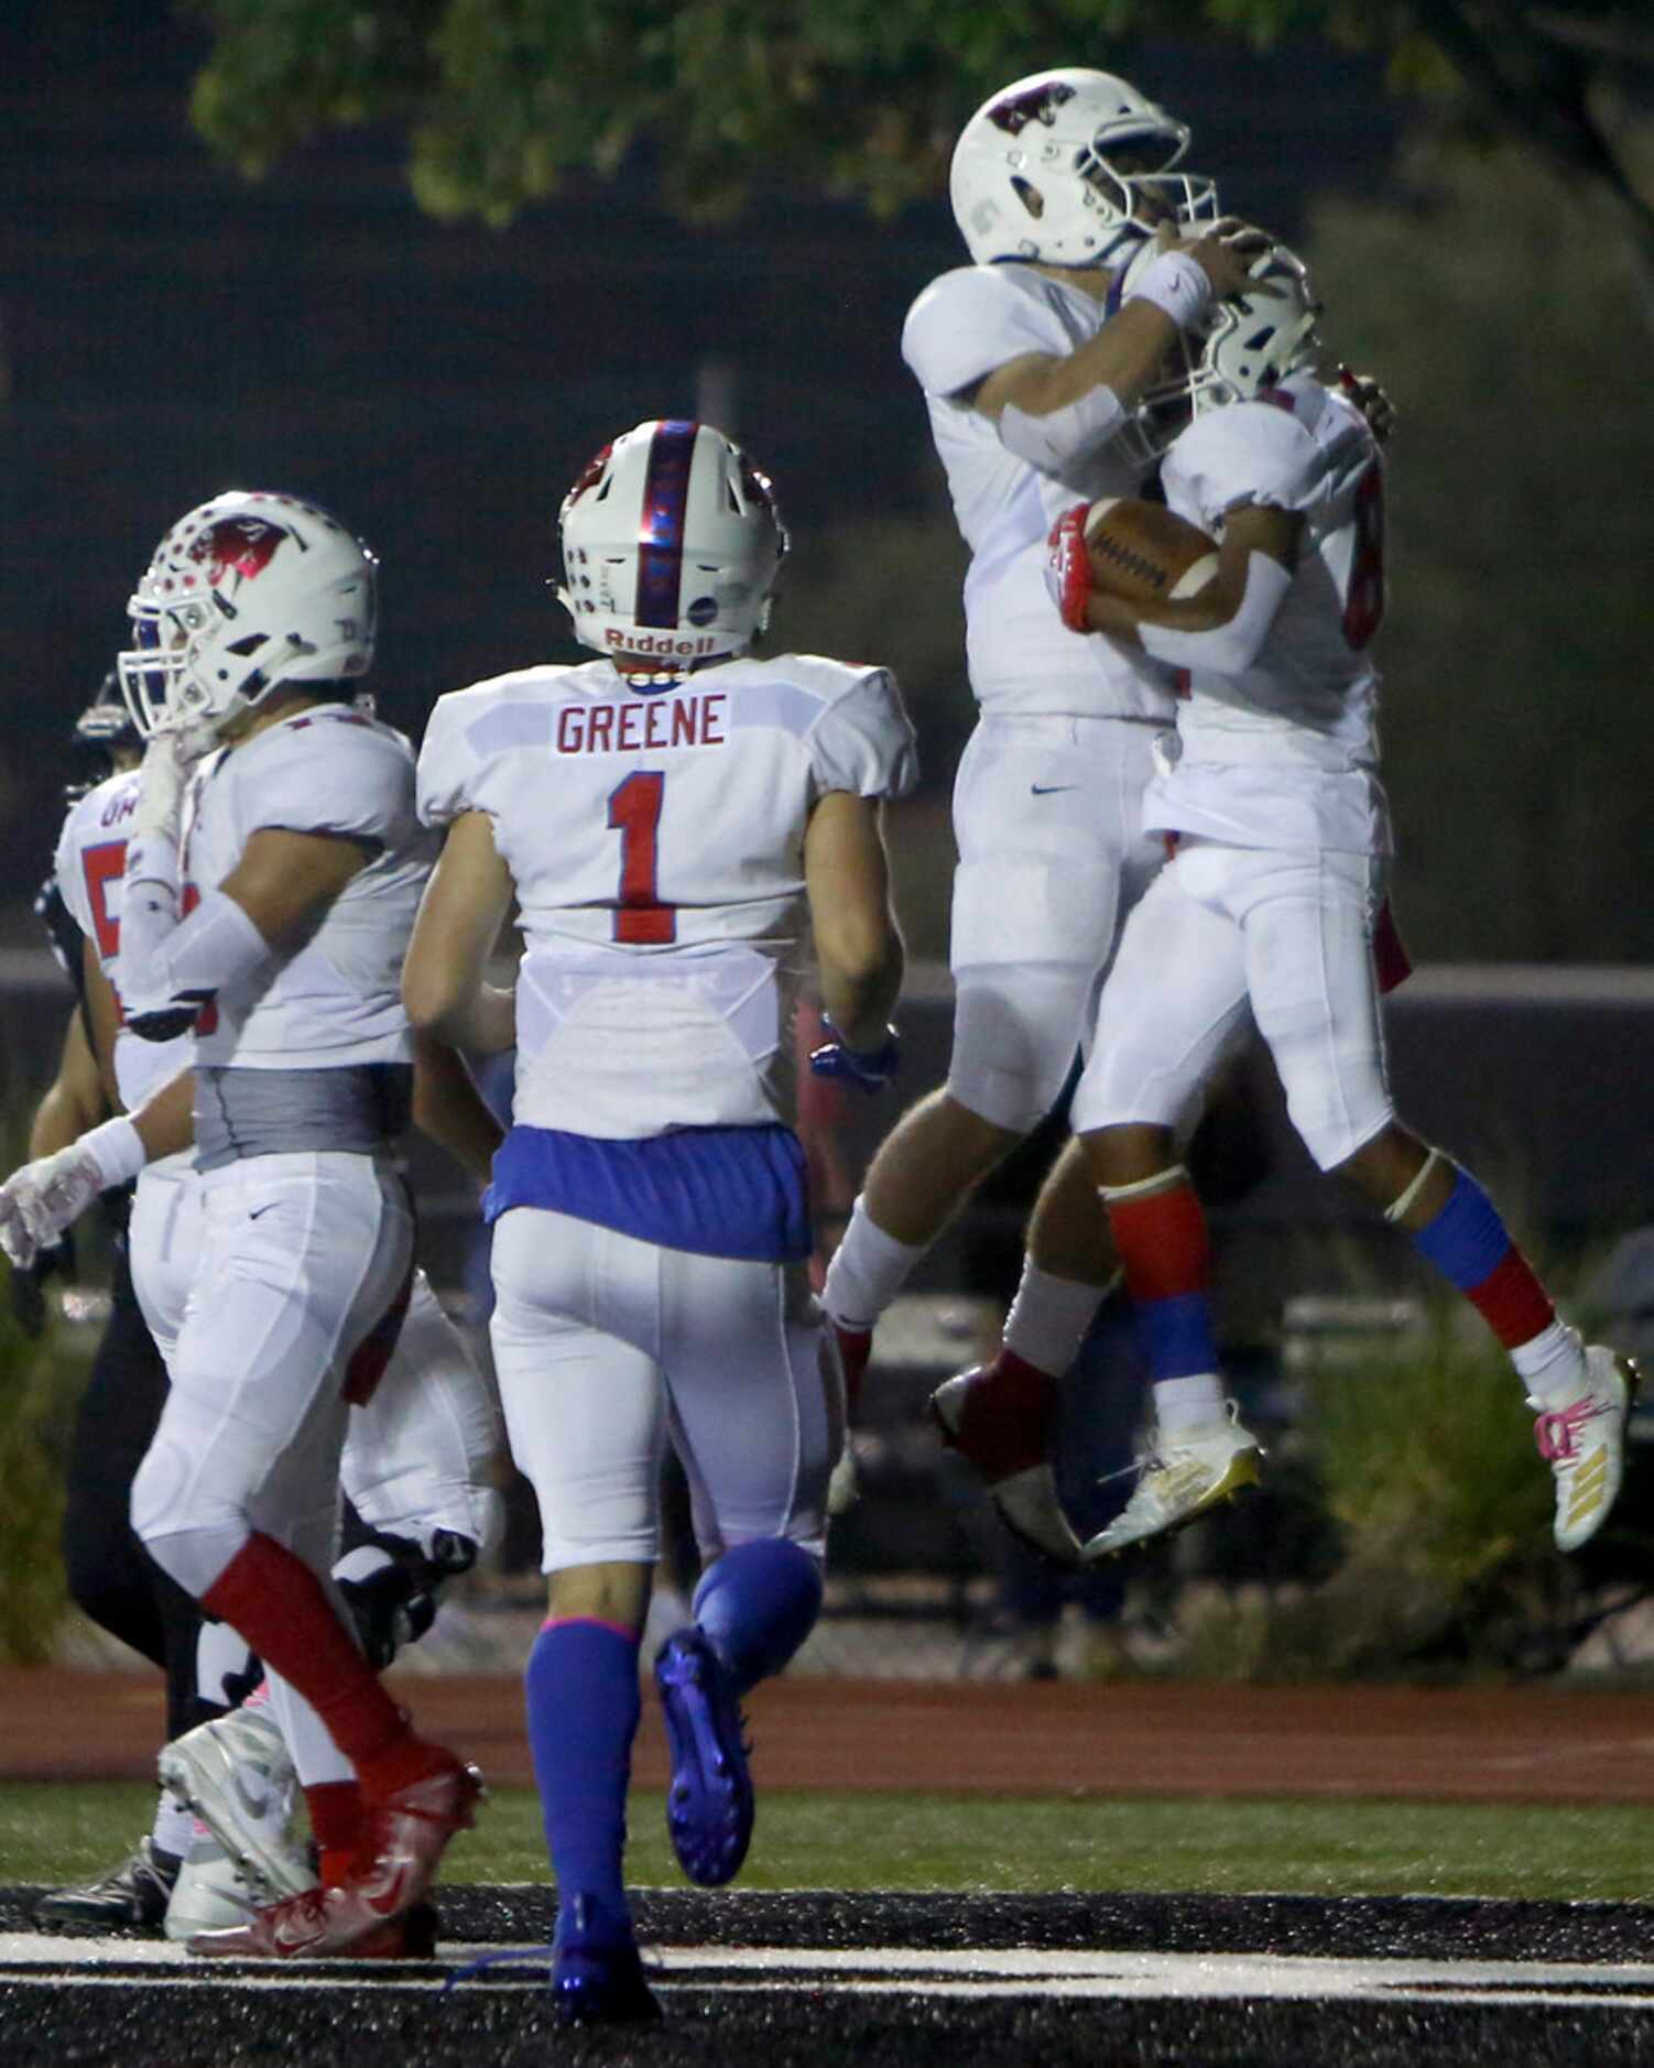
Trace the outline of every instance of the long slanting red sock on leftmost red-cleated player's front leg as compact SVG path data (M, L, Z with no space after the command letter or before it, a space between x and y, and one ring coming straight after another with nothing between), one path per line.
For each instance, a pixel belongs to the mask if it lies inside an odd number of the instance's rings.
M409 1741L407 1716L378 1685L304 1559L254 1530L201 1605L298 1687L364 1781L387 1754L395 1764Z

